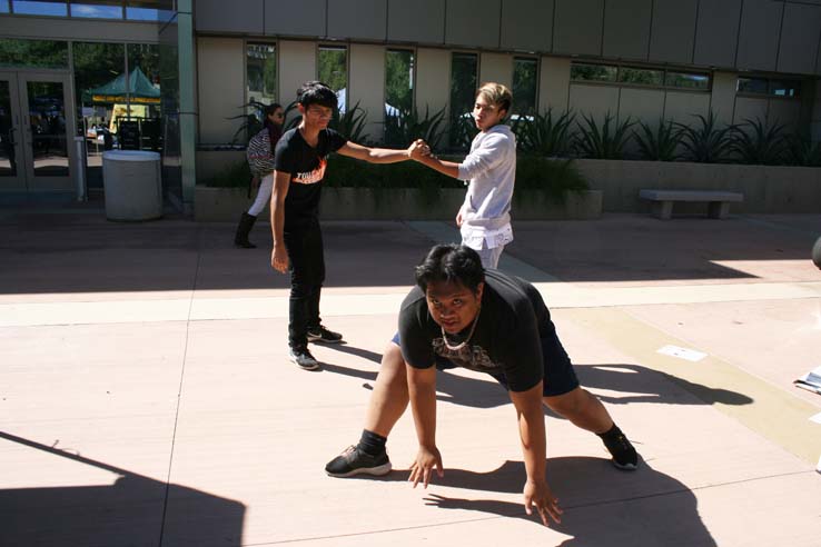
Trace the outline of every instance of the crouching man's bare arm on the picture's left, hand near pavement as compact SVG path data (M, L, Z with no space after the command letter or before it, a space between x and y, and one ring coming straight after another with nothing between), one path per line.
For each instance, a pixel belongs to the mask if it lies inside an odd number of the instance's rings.
M414 368L408 365L406 368L410 408L419 440L419 451L410 466L408 480L414 488L419 483L427 488L434 467L439 477L444 476L442 455L436 448L436 367Z

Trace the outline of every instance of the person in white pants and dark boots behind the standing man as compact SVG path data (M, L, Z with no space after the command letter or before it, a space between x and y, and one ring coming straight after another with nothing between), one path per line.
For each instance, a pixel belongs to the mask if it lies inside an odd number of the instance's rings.
M251 185L256 186L259 182L259 190L257 190L254 203L239 218L237 233L234 236L234 245L243 249L256 248L256 245L248 240L248 233L254 228L254 222L257 221L259 213L270 201L270 193L274 188L274 150L283 135L284 121L285 111L283 106L276 102L268 105L265 107L263 130L251 137L250 142L248 142L248 165L254 177Z

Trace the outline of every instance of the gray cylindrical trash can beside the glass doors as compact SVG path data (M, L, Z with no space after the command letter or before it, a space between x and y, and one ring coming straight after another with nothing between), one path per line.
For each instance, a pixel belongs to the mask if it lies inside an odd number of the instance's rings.
M102 186L106 190L106 217L109 220L151 220L162 216L158 152L102 152Z

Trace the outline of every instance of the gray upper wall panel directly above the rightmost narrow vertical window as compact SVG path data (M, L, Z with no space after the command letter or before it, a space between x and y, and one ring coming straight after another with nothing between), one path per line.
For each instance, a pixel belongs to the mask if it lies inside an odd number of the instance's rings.
M554 0L502 0L502 48L552 51L554 6Z

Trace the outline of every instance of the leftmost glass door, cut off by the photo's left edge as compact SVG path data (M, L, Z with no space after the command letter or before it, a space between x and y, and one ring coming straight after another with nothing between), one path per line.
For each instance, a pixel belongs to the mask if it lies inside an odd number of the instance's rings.
M0 191L26 190L17 76L0 72Z

